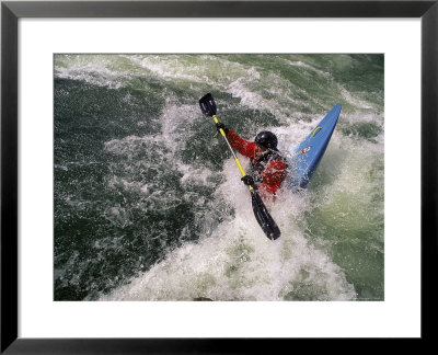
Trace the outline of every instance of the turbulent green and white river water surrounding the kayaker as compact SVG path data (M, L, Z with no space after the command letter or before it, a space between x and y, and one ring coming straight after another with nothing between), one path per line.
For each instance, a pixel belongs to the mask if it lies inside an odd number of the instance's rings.
M383 300L382 55L56 55L55 300ZM198 100L290 154L343 108L307 190L247 188ZM240 160L250 172L246 158Z

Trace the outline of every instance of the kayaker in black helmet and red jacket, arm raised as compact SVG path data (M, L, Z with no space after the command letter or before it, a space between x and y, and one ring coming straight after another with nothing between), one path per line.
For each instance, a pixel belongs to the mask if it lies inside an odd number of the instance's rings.
M251 159L252 175L241 180L245 185L258 188L262 193L275 195L286 178L287 163L277 149L278 139L272 131L261 131L255 141L242 139L223 123L216 124L217 129L223 129L230 145L242 156Z

